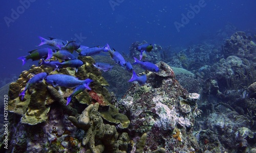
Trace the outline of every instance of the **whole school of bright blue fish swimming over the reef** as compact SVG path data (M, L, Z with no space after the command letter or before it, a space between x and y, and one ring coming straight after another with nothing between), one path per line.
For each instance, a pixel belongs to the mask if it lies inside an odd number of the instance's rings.
M140 86L145 85L146 83L146 75L138 76L133 69L132 64L129 61L125 61L122 55L117 52L114 48L113 50L110 48L109 44L107 43L105 46L93 46L87 47L76 43L75 41L68 41L65 42L60 39L55 39L49 37L49 39L45 39L39 37L41 43L38 46L47 44L52 46L54 49L51 48L38 48L31 50L28 56L19 57L18 59L23 61L23 65L31 59L32 61L40 60L40 65L45 65L48 67L53 68L53 71L59 71L60 68L71 67L74 68L75 72L77 72L78 67L83 65L81 60L78 60L74 55L73 52L78 53L79 56L94 56L100 53L109 53L112 60L115 61L116 64L123 67L127 71L132 73L132 78L128 82L138 83ZM142 44L138 46L136 49L140 52L140 60L134 57L135 62L133 64L139 64L143 69L158 72L159 68L151 63L144 61L146 52L151 52L154 48L154 44ZM52 57L57 58L58 60L52 60ZM61 61L61 62L59 62ZM112 69L112 65L109 63L93 63L93 65L103 71L108 71ZM51 74L49 75L46 72L41 72L38 74L33 74L32 77L26 84L24 90L19 94L21 99L24 99L25 93L30 87L42 80L45 80L48 84L52 85L53 87L61 86L66 88L74 88L73 93L67 98L67 104L72 101L72 97L77 95L78 93L82 92L83 90L92 90L89 85L93 80L86 79L86 80L79 80L71 75L66 74Z

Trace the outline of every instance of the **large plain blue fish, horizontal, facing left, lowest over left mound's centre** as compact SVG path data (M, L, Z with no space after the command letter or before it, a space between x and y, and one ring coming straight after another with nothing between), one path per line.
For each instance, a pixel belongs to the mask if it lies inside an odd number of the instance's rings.
M66 74L52 74L45 78L45 81L53 87L61 86L72 88L78 85L85 85L87 80L78 80L77 78Z

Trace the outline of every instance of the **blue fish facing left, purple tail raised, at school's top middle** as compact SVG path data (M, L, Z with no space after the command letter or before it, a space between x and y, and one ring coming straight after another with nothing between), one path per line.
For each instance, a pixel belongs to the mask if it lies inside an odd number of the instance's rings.
M100 54L101 52L109 52L109 50L110 50L110 46L109 46L109 44L106 44L104 47L94 46L94 47L83 49L79 53L79 55L80 56L93 56L93 55Z

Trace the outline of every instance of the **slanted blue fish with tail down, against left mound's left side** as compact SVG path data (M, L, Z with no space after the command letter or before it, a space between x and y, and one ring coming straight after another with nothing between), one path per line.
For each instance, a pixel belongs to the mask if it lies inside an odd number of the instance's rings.
M22 96L22 100L23 100L23 98L25 96L25 92L30 88L30 86L34 85L38 82L41 82L44 78L46 78L47 75L48 75L48 73L46 73L46 72L41 72L41 73L36 74L33 78L31 78L28 81L28 83L25 86L25 89L18 96Z

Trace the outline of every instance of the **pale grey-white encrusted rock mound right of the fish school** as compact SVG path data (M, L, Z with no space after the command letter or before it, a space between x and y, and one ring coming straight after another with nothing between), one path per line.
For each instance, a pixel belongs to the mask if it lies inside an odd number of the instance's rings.
M156 65L160 71L147 73L146 84L132 86L116 107L131 120L128 130L135 143L139 143L142 134L147 134L145 152L159 147L166 152L196 151L199 145L191 129L195 117L201 113L193 102L197 97L191 98L190 95L189 98L188 92L175 80L174 71L166 63ZM186 103L180 103L182 99Z

